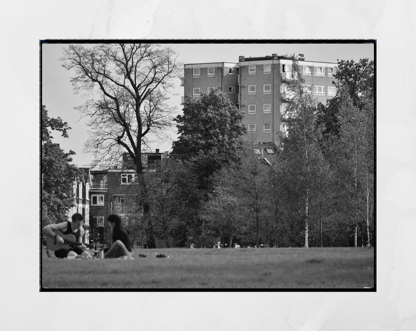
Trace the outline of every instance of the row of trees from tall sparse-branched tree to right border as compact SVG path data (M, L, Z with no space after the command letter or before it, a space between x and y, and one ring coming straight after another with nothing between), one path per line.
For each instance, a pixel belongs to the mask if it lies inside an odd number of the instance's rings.
M64 68L92 99L86 149L96 162L129 153L142 211L132 236L175 246L358 246L374 239L374 63L340 61L337 96L317 104L297 63L286 108L284 149L259 155L243 114L220 91L185 103L180 137L160 171L146 173L141 153L171 125L168 90L181 63L153 44L70 46ZM298 73L296 75L296 73ZM96 89L94 89L96 88ZM157 137L156 137L157 138ZM138 216L140 214L140 216Z

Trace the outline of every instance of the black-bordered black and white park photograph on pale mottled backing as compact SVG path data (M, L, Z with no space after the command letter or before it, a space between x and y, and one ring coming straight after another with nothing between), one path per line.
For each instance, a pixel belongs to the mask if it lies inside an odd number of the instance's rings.
M42 40L42 290L375 291L375 50Z

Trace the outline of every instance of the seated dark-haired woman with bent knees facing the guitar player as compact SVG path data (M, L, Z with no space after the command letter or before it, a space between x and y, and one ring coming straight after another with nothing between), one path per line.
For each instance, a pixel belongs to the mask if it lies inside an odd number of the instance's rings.
M104 258L119 258L126 256L131 258L131 241L129 231L121 226L121 217L115 214L107 218L113 229L113 244L108 250L104 250Z

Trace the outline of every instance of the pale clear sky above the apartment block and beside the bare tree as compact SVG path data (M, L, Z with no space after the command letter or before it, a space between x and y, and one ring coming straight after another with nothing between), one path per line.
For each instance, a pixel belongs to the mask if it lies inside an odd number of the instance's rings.
M64 42L62 40L61 42ZM156 42L156 41L155 41ZM187 63L230 62L237 63L238 57L258 57L277 53L301 53L306 61L337 63L337 60L358 61L360 58L374 59L374 45L371 43L172 43L161 44L170 46L178 53L178 60ZM85 100L82 93L75 95L72 89L71 77L74 70L62 67L62 50L68 44L45 43L42 45L42 104L46 105L49 117L60 117L72 128L69 138L63 138L59 133L52 133L54 142L66 152L74 150L73 163L78 166L92 162L92 155L83 152L84 142L88 138L87 119L82 118L74 107L82 105ZM174 81L175 88L170 90L170 106L177 107L181 113L181 96L183 87L181 81ZM172 142L177 139L176 127L170 133L170 139L151 145L152 150L158 148L161 152L171 151Z

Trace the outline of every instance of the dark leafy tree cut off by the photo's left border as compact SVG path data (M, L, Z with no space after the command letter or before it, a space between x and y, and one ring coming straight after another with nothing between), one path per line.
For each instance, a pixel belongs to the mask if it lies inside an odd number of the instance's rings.
M50 118L42 105L42 226L67 221L73 206L73 184L80 175L78 168L69 164L75 152L64 153L51 135L57 131L68 138L70 129L61 118Z

